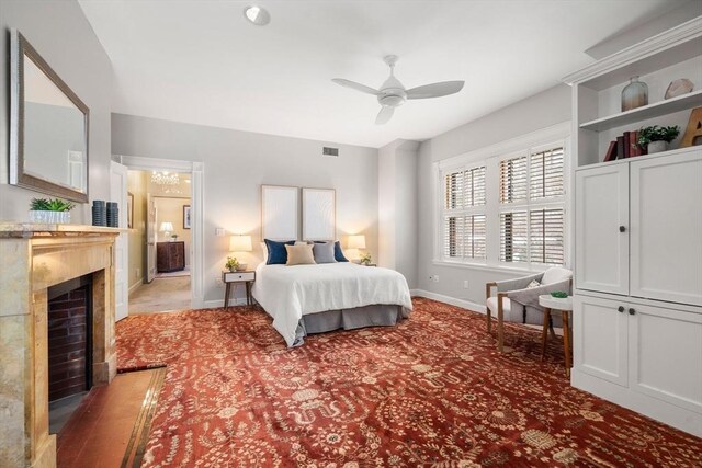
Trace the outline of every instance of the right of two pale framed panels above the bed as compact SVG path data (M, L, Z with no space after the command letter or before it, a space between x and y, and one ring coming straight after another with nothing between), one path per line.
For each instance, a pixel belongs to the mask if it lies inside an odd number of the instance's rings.
M336 238L336 191L303 189L303 240L335 240Z

